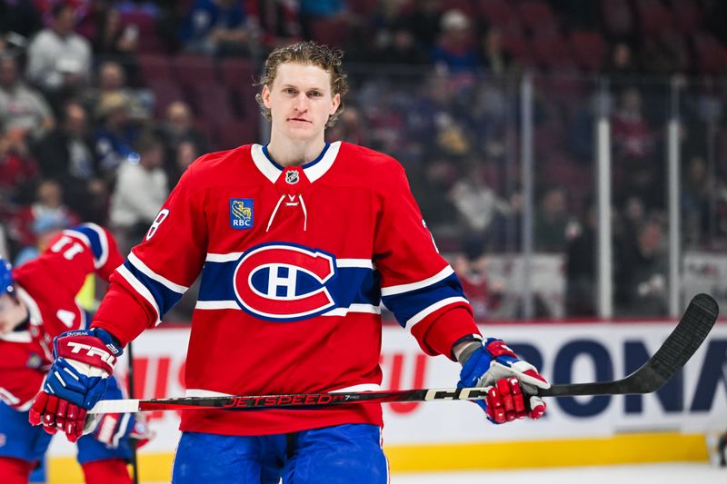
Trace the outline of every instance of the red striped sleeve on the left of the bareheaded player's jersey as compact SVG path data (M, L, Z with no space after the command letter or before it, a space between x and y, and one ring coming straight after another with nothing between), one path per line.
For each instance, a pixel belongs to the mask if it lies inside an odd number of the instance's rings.
M158 324L202 271L207 251L204 188L190 166L146 232L110 279L92 326L123 345Z

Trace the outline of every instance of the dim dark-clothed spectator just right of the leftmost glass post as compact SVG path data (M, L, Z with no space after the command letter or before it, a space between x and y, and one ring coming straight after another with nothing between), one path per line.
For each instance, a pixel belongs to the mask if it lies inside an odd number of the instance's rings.
M562 252L567 242L567 230L571 224L565 191L561 187L550 188L535 209L534 239L539 251Z

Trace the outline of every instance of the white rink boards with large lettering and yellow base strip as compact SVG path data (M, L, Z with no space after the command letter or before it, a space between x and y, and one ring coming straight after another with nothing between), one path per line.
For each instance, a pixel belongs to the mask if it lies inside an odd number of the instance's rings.
M551 381L614 380L637 369L674 321L489 324ZM137 397L184 395L184 327L146 331L134 341ZM454 386L458 365L429 358L398 326L383 330L383 389ZM124 367L120 363L117 368ZM511 469L707 459L704 434L727 428L727 324L662 390L645 396L548 400L547 418L494 426L470 402L384 405L384 447L395 471ZM140 451L143 479L167 480L179 437L175 412L149 414L156 438ZM527 454L527 459L523 456ZM80 476L75 449L51 448L49 481Z

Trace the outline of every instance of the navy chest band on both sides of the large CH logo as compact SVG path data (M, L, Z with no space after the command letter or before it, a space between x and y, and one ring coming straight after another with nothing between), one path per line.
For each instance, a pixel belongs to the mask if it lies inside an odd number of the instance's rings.
M236 266L236 261L205 262L198 301L236 301L233 285ZM336 308L347 308L351 304L379 305L378 273L365 267L339 267L337 272L337 276L326 283Z

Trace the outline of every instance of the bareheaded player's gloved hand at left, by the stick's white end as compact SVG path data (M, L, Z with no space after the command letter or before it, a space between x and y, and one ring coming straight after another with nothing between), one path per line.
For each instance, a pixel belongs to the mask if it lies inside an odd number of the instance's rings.
M55 362L28 420L43 424L51 434L61 430L75 442L84 434L86 410L104 397L107 379L123 351L114 336L101 328L65 332L53 346Z

